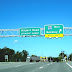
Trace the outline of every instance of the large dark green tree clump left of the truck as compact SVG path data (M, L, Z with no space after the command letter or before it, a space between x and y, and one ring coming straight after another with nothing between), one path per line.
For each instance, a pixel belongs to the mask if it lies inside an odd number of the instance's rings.
M0 48L0 62L5 62L5 55L8 55L9 62L18 62L18 61L26 61L27 55L29 55L28 51L23 50L22 52L15 52L13 49L4 47Z

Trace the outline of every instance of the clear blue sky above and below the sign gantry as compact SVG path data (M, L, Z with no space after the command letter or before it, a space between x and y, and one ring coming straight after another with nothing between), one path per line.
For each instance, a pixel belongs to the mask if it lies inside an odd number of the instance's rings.
M63 24L72 27L71 0L0 0L0 29L40 27ZM72 53L72 37L47 39L45 37L0 38L0 48L7 46L15 51L57 57L61 50Z

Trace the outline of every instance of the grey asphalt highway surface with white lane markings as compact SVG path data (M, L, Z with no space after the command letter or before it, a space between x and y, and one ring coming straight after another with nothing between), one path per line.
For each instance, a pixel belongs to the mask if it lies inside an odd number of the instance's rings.
M72 72L72 62L0 62L0 72Z

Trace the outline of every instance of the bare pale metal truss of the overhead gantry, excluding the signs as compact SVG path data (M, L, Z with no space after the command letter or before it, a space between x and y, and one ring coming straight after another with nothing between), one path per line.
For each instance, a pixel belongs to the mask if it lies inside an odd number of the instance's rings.
M72 27L64 27L64 36L72 36ZM44 28L41 28L43 33L40 36L44 35ZM20 36L19 29L0 29L0 37L38 37L38 36Z

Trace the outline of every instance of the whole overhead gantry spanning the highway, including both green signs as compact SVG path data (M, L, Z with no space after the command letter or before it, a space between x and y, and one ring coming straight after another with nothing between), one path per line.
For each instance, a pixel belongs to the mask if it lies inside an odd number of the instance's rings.
M54 24L53 24L54 25ZM38 37L45 36L46 38L72 36L72 27L56 28L53 25L45 25L45 28L20 28L20 29L0 29L0 37ZM59 24L56 24L59 25ZM29 29L29 30L27 30ZM33 30L32 30L33 29ZM53 31L54 34L53 34ZM48 35L50 34L50 35ZM53 34L53 35L51 35ZM57 34L57 35L56 35Z

